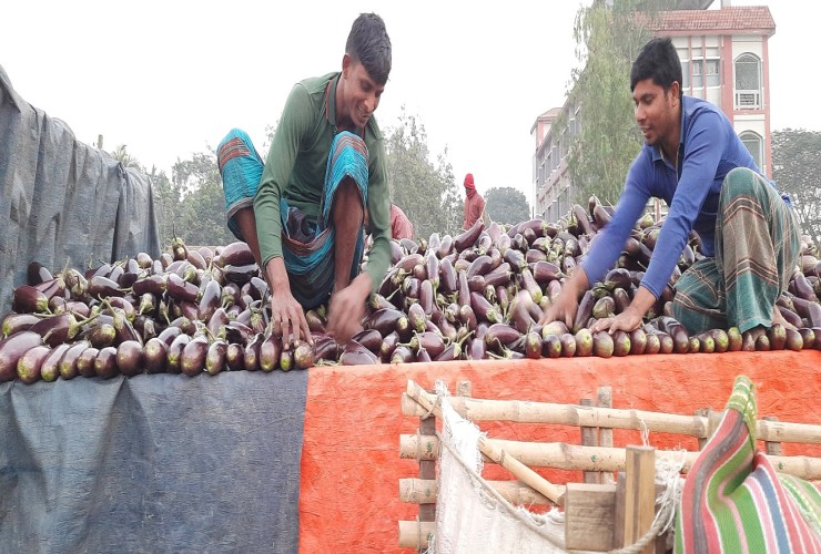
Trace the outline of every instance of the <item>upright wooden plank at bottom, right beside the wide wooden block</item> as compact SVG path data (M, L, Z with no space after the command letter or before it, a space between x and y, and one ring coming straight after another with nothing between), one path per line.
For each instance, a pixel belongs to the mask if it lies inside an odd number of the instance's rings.
M656 449L627 447L625 483L625 543L630 546L641 538L656 516ZM652 554L653 543L642 554Z

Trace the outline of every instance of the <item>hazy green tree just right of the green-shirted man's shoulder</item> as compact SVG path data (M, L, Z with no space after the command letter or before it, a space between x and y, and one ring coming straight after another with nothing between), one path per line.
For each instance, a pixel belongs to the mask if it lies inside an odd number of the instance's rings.
M391 199L414 224L416 236L458 232L463 204L447 162L447 148L434 166L425 126L417 117L407 115L404 107L397 125L386 129L385 142Z

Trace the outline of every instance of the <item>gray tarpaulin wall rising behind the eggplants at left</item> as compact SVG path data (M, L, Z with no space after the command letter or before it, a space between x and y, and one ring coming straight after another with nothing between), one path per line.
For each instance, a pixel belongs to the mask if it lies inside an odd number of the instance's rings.
M14 92L0 66L0 314L29 263L51 270L160 255L148 177L77 140Z

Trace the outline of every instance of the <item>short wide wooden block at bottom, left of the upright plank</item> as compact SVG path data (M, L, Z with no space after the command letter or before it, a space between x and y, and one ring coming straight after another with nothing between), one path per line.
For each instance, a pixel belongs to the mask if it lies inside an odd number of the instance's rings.
M565 547L595 552L611 550L615 515L615 484L568 483Z

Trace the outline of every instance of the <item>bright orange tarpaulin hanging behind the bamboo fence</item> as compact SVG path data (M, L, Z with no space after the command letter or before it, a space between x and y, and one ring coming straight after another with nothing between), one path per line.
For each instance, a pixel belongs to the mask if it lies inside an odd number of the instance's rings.
M614 408L691 416L699 408L723 409L736 377L743 373L758 388L759 419L821 423L821 351L815 350L326 366L308 371L300 492L304 553L402 552L397 521L418 514L418 507L401 502L398 494L399 479L418 476L416 461L399 459L399 435L415 433L419 421L402 414L408 379L428 390L443 379L452 392L467 379L474 398L559 403L595 399L598 387L610 386ZM479 427L490 438L579 444L578 430L568 427ZM638 431L614 434L616 445L641 440ZM659 449L698 449L695 438L682 435L651 433L649 442ZM821 445L784 444L782 452L821 456ZM490 464L488 474L510 479ZM564 482L580 480L580 472L565 472Z

